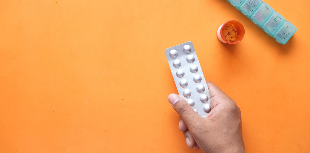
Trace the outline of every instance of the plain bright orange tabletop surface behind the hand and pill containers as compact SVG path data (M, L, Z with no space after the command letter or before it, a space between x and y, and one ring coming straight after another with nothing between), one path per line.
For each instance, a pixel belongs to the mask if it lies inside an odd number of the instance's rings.
M309 152L309 1L265 2L298 29L286 45L224 0L0 1L0 152L200 152L167 101L164 50L186 41L247 152ZM231 19L246 34L222 44Z

